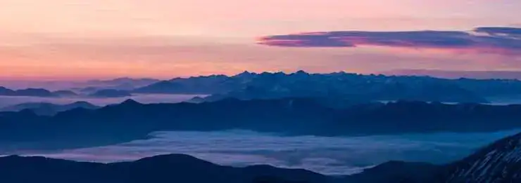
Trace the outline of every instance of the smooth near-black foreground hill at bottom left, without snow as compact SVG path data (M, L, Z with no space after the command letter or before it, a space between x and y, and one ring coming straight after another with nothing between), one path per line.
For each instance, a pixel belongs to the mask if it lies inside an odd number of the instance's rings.
M234 168L216 165L192 156L170 154L123 163L83 163L44 157L0 158L0 182L52 183L251 183L263 177L284 183L332 183L341 179L308 170L275 168L268 165ZM283 183L283 182L270 182Z

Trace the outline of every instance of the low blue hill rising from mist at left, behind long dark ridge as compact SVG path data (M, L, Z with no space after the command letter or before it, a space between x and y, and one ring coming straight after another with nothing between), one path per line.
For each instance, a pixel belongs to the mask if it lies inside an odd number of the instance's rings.
M36 102L15 104L13 106L4 107L1 109L1 111L22 111L24 109L30 109L38 115L52 116L54 114L57 114L58 112L76 108L98 109L99 107L94 104L90 104L89 102L74 102L71 104L51 104L44 102Z

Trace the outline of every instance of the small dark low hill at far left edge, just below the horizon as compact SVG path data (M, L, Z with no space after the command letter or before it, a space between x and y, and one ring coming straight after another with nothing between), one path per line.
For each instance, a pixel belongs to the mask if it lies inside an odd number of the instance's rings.
M22 90L11 90L0 86L0 95L3 96L27 96L27 97L62 97L73 96L74 92L69 90L58 90L51 92L43 88L27 88Z

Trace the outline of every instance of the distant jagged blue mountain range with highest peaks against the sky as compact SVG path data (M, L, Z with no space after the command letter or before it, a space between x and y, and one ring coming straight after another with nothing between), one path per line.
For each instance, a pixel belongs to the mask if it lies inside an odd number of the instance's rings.
M428 76L384 76L303 71L235 76L177 78L137 88L136 93L211 94L206 101L235 97L243 100L282 97L334 97L364 100L487 102L487 97L521 93L521 81L501 79L437 79Z

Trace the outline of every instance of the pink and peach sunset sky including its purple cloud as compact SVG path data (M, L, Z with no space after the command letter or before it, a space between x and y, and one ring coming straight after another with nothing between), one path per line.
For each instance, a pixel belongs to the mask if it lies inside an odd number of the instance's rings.
M518 0L0 0L0 80L521 71L520 8Z

